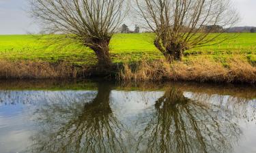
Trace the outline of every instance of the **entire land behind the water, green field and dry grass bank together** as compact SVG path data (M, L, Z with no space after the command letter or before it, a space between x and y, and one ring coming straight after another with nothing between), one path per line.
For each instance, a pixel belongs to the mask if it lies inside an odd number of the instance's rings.
M214 35L214 34L212 34ZM233 35L226 33L225 36ZM0 78L104 78L123 82L182 80L256 84L254 33L242 33L223 44L184 52L182 62L165 61L152 33L116 34L111 40L113 66L97 67L91 50L71 44L47 47L40 35L0 35Z

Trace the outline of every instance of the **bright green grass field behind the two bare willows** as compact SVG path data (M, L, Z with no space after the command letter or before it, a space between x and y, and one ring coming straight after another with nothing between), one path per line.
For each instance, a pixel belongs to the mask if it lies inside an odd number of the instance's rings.
M231 34L225 34L231 35ZM116 34L111 41L111 56L114 63L139 61L141 58L157 59L162 54L154 47L153 34ZM225 61L233 54L240 54L251 63L256 63L256 33L242 33L235 39L215 46L194 48L186 51L184 60L195 56ZM0 35L0 59L10 61L67 61L76 65L91 65L97 62L94 52L83 46L46 48L33 35Z

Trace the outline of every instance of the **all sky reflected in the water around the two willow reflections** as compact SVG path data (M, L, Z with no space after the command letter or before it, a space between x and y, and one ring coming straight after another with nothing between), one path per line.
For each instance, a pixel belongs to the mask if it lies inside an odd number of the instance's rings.
M154 113L155 102L165 92L152 91L120 91L112 90L110 105L116 118L132 131L143 129L150 116ZM0 91L0 152L20 152L27 149L31 144L30 137L35 132L34 116L37 109L44 105L72 105L70 99L79 103L89 103L97 95L96 91ZM254 142L256 141L255 106L256 99L246 100L228 95L207 95L193 92L184 92L184 96L195 101L208 101L218 105L219 109L229 111L229 119L235 120L242 129L239 146L235 152L256 152ZM236 104L236 101L240 102ZM233 105L230 105L235 103ZM74 106L75 108L76 106ZM77 106L79 107L79 105ZM218 109L214 110L218 112ZM221 111L220 111L221 112ZM223 113L223 112L221 112ZM250 120L243 116L250 114ZM218 113L217 113L218 114ZM223 114L218 114L219 116ZM248 117L248 116L247 116ZM65 120L65 119L64 119ZM134 133L132 133L134 134ZM132 135L131 134L131 135Z

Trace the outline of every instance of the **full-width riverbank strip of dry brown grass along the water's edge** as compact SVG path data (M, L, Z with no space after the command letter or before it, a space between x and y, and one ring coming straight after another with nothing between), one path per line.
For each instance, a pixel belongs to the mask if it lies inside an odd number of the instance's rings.
M113 64L107 69L75 66L68 63L0 61L0 78L8 79L79 79L102 78L123 82L189 81L256 84L256 67L246 59L233 56L223 63L210 58L167 63L165 59Z

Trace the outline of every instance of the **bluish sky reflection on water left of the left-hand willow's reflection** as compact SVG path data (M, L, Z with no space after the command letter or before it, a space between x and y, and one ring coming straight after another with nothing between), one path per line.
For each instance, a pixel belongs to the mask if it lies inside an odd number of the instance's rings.
M79 98L87 93L95 95L89 91L0 91L0 152L20 152L31 144L35 127L31 116L38 106L54 103L63 95Z

